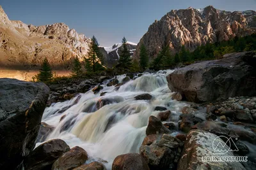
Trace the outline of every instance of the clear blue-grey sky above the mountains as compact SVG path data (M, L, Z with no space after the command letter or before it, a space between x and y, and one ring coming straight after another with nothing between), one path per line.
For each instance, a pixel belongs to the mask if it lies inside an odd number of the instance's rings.
M168 11L214 8L226 11L256 10L256 0L1 0L10 20L46 25L64 22L87 37L95 37L101 46L127 41L138 43L154 20Z

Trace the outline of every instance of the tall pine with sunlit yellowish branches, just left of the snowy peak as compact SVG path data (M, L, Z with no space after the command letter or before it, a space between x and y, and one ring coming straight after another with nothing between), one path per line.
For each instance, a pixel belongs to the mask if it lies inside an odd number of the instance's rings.
M85 68L87 71L100 71L103 70L102 66L104 59L103 55L99 50L99 43L95 36L92 37L92 41L90 42L90 49L88 51L88 58L84 57Z

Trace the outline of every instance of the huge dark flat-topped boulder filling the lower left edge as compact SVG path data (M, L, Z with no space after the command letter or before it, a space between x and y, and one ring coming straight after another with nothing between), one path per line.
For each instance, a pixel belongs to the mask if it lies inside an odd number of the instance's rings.
M44 83L0 79L0 169L13 169L35 148L48 96Z

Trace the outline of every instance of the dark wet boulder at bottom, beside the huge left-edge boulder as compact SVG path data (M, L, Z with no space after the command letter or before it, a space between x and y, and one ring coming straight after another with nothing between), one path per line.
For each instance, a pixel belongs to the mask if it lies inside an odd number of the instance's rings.
M52 139L39 145L29 153L20 165L20 169L51 169L52 164L65 152L70 150L65 141Z

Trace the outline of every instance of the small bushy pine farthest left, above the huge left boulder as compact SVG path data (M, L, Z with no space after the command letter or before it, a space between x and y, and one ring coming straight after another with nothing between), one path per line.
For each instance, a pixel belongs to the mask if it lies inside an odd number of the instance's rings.
M52 81L52 78L53 78L52 69L46 57L42 63L40 73L38 73L35 76L35 78L37 81L42 81L44 83L49 83Z

